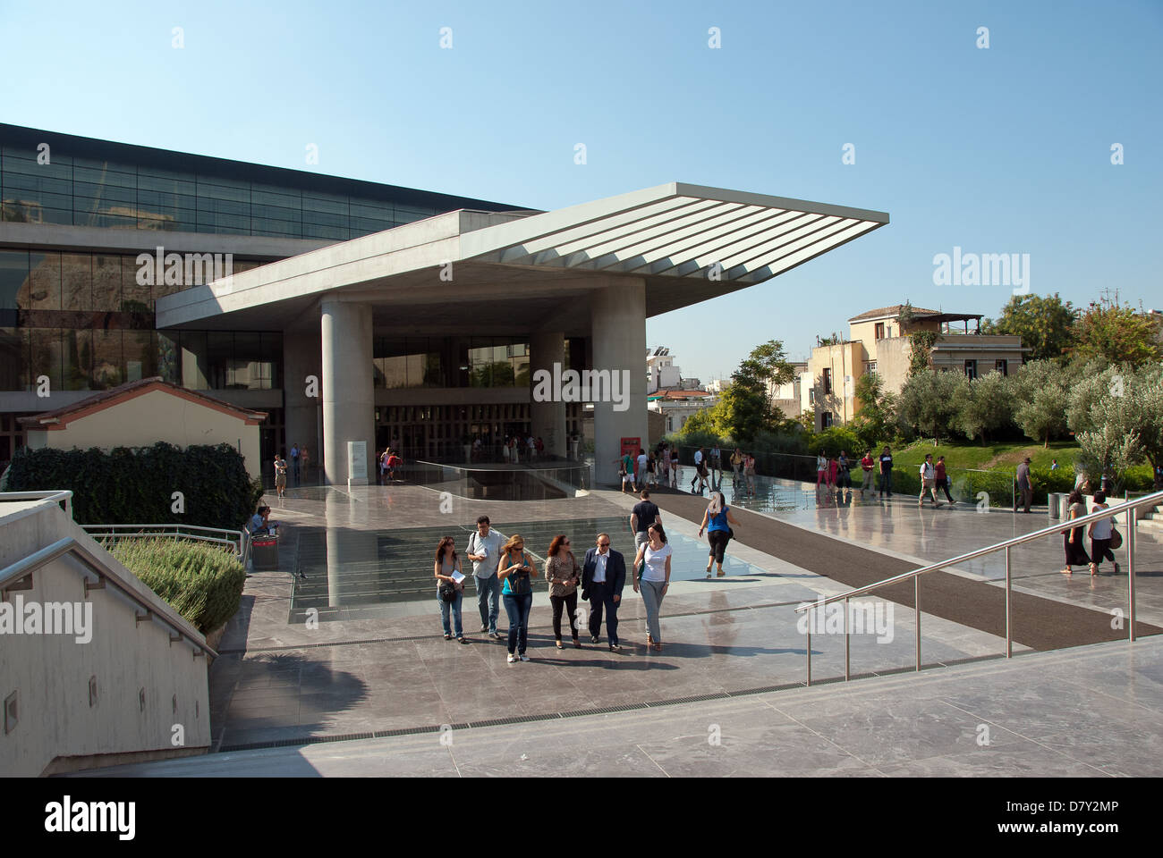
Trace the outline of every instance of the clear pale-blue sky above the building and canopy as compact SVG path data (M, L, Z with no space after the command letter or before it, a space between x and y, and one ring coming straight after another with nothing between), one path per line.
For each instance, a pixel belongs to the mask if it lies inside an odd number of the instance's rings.
M996 316L1009 288L933 285L955 245L1163 309L1160 0L264 6L0 0L0 121L531 208L679 180L890 213L650 320L704 380L905 299Z

